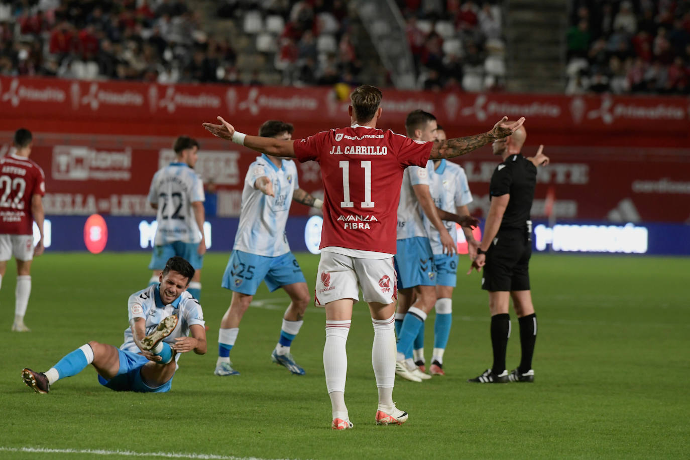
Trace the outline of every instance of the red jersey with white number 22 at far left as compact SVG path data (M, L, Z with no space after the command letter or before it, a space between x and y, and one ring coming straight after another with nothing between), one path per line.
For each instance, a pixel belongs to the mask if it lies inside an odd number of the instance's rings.
M0 234L33 234L35 194L46 194L43 170L26 157L0 158Z

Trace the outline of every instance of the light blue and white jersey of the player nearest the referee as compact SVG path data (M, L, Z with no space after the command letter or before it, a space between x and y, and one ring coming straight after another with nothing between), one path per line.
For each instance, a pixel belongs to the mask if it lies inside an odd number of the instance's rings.
M429 191L437 208L446 212L457 212L457 206L465 206L472 202L467 175L462 166L442 159L438 168L435 168L433 161L429 160L426 164L426 171L429 176ZM453 237L457 246L457 231L455 222L443 221L446 230ZM431 225L431 221L424 216L424 226L431 242L431 250L434 254L443 254L441 245L441 234Z

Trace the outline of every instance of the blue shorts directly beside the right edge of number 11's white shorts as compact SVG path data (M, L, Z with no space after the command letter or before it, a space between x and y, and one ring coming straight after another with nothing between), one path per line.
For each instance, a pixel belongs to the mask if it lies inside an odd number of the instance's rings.
M397 288L436 286L436 272L429 239L426 237L399 239L396 246Z

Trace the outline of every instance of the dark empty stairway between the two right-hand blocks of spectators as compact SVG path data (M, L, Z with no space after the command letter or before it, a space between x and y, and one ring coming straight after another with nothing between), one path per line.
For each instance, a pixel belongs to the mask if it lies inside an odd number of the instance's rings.
M506 89L565 90L568 0L505 0Z

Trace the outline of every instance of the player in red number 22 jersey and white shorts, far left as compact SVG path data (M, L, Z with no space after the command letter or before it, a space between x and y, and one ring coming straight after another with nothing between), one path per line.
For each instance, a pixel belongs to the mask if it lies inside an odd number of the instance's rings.
M29 159L33 137L27 129L14 132L15 151L0 159L0 286L7 261L17 259L17 289L14 291L12 330L30 332L24 314L31 294L31 261L43 254L43 200L46 177ZM39 242L34 248L34 221Z

